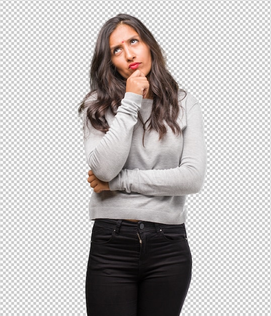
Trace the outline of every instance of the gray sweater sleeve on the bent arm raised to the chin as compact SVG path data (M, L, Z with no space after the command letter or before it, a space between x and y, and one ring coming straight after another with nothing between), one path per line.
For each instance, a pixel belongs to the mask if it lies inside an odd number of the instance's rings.
M110 181L123 168L130 150L133 127L138 121L142 98L142 95L126 92L106 133L97 131L92 126L84 127L86 160L98 179Z

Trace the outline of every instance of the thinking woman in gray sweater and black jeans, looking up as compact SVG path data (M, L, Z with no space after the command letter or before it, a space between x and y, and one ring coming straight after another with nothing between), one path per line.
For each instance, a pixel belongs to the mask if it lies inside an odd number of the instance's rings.
M185 197L205 178L197 100L178 89L138 19L102 27L79 112L95 220L86 276L91 316L178 316L191 279Z

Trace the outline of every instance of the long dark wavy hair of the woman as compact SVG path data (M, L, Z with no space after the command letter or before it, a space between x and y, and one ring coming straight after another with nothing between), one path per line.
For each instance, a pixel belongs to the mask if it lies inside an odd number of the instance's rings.
M111 61L109 48L109 36L120 24L132 27L151 50L152 67L148 79L149 90L153 93L152 114L146 122L143 122L139 113L144 134L146 130L154 129L161 139L167 132L166 124L175 134L180 134L181 129L176 122L180 107L178 91L185 91L179 89L177 82L166 69L163 50L152 33L140 20L127 14L118 14L111 18L100 30L90 69L91 90L80 103L79 114L87 108L87 119L90 120L92 126L106 132L109 125L105 113L110 109L115 115L120 106L120 101L125 94L126 80L116 71ZM96 93L97 99L88 100L93 92Z

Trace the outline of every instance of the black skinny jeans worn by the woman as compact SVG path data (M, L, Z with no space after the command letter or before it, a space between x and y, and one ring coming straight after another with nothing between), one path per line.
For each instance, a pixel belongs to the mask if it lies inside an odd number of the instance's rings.
M184 224L95 220L88 316L179 316L191 265Z

